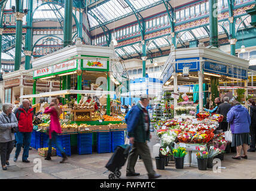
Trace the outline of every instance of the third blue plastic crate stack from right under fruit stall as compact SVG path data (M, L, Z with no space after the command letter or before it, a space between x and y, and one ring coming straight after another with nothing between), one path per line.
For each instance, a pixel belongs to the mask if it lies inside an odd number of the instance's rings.
M79 155L92 154L92 133L78 134L77 152Z

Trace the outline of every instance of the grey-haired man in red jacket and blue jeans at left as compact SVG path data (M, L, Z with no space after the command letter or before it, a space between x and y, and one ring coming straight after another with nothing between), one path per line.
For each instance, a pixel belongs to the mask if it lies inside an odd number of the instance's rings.
M16 152L14 156L14 162L17 161L24 144L24 150L22 155L22 162L30 162L29 157L29 145L31 143L31 133L33 131L33 108L30 106L30 101L25 99L22 101L22 105L14 112L19 127L19 132L16 133Z

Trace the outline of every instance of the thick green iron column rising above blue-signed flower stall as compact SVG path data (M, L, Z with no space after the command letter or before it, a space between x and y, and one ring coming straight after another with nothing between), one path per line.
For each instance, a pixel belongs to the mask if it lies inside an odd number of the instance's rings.
M218 47L218 0L209 0L210 45Z

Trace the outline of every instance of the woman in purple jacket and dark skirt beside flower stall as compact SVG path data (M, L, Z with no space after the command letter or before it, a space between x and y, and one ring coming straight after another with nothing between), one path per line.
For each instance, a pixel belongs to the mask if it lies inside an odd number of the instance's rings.
M233 134L231 147L236 146L236 156L232 158L238 160L241 158L248 159L247 150L250 144L249 127L251 124L251 117L248 110L236 101L227 113L227 122L230 123ZM243 156L240 156L242 148Z

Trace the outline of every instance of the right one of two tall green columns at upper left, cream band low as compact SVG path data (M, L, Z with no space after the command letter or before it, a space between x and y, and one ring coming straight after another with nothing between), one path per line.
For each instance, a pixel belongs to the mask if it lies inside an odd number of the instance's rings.
M29 0L27 21L27 32L25 38L25 70L31 69L31 54L32 54L32 13L33 13L33 0Z

